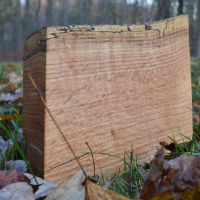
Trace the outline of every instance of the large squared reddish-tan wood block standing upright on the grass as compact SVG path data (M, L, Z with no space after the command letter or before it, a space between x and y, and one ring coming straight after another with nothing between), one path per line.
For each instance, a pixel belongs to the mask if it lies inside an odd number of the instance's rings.
M149 25L44 28L25 42L23 128L28 158L40 176L61 182L78 170L27 79L29 69L77 155L133 149L149 161L158 142L192 135L186 16ZM90 165L91 156L81 157ZM95 155L97 168L122 162Z

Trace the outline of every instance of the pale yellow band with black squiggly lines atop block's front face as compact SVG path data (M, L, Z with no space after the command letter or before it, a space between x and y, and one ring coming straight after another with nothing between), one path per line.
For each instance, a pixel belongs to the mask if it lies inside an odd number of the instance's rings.
M162 37L174 32L180 32L189 28L188 16L180 15L169 19L136 25L68 25L58 27L47 27L47 40L57 38L58 34L71 32L111 32L131 33L138 36Z

